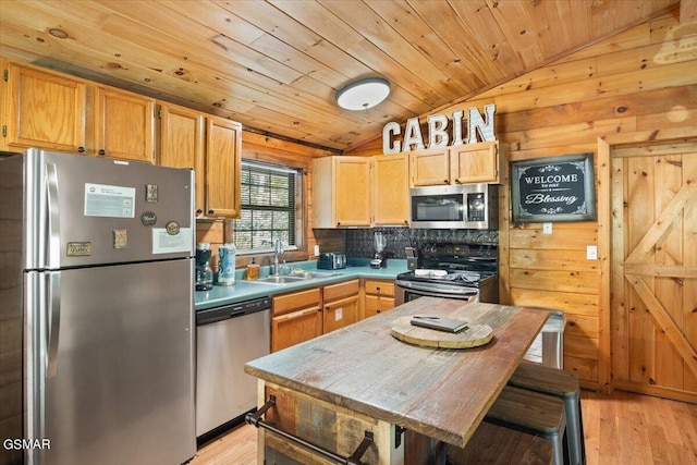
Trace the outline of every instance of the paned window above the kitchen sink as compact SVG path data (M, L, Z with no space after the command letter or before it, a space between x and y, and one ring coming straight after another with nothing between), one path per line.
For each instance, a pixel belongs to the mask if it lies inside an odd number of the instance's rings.
M286 250L299 245L297 206L301 171L257 161L242 162L242 213L233 224L232 238L239 253L273 249L279 237Z

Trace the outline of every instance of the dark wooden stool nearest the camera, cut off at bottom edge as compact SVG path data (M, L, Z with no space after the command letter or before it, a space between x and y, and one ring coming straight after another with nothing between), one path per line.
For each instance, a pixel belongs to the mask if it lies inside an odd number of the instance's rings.
M552 445L542 438L481 423L464 449L448 445L448 465L549 465Z

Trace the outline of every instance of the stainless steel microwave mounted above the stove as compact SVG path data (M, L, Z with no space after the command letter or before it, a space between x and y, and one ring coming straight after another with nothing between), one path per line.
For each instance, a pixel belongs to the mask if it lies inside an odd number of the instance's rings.
M409 189L411 227L499 229L499 186L460 184Z

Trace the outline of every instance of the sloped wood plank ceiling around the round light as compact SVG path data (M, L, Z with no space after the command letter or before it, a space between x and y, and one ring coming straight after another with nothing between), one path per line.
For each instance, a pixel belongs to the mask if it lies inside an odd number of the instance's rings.
M2 56L342 151L680 0L0 2ZM338 108L367 76L390 81L389 99Z

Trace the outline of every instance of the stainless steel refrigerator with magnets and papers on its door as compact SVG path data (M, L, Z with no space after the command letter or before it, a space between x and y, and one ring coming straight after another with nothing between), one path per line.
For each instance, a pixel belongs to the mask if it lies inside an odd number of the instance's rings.
M194 455L194 195L192 170L0 160L0 463Z

